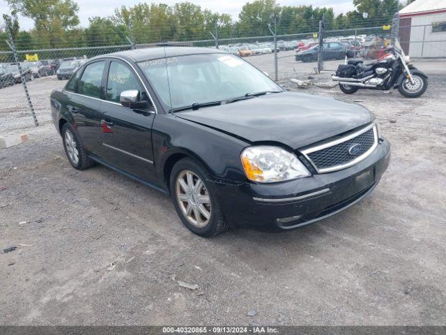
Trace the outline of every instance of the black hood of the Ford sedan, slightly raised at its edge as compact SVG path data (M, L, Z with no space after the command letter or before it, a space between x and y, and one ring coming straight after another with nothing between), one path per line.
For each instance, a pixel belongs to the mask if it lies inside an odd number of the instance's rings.
M293 149L351 131L374 119L361 105L295 92L177 112L176 116L247 142L280 142Z

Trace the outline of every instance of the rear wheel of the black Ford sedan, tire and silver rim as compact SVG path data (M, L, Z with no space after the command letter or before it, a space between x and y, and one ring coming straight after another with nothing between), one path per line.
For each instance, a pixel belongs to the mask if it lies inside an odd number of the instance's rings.
M79 141L79 137L70 124L63 124L61 134L63 149L65 149L65 154L73 168L77 170L85 170L94 165L91 158L86 155L84 146ZM72 139L72 142L70 139ZM74 153L77 154L77 160L73 158L72 154Z

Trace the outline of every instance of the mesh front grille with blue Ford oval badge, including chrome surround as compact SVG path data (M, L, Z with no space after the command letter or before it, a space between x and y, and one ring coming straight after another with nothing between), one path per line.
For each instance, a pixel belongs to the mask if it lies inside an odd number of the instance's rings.
M368 130L367 130L368 129ZM355 135L357 134L357 135ZM307 149L302 153L307 156L319 173L332 172L347 168L366 158L371 149L377 144L375 127L367 127L345 137L345 140L334 141L323 146ZM318 148L321 149L318 149Z

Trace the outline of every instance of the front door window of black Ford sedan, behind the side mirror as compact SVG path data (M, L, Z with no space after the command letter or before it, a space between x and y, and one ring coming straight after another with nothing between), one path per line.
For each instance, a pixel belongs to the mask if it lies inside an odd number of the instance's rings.
M121 92L129 89L137 89L142 93L143 89L133 71L121 62L112 61L110 63L109 75L107 77L106 99L119 103Z

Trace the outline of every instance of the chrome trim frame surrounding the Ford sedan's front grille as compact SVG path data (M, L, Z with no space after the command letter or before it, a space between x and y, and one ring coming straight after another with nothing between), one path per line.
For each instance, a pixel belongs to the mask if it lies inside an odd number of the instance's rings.
M312 152L315 151L319 151L322 149L326 149L329 147L333 147L334 145L346 142L348 140L351 140L367 131L369 131L371 128L373 128L374 130L374 144L370 147L369 150L367 150L366 152L364 152L364 154L362 154L361 156L357 156L355 159L353 159L352 161L349 161L348 163L345 164L341 164L341 165L334 165L334 166L330 166L330 168L318 168L316 166L316 164L313 163L312 159L309 158L309 154L311 154ZM321 144L318 145L316 147L312 147L309 149L305 149L300 151L302 153L302 155L305 156L305 158L307 158L307 161L309 161L309 163L313 166L313 168L318 172L318 173L328 173L328 172L334 172L334 171L339 171L339 170L343 170L346 168L349 168L353 165L356 165L357 163L360 163L361 161L364 161L365 158L369 157L371 155L371 153L376 149L376 147L378 146L378 131L376 130L376 125L374 123L369 124L369 126L362 128L360 131L356 131L355 133L351 133L350 135L347 135L345 137L341 137L337 140L334 140L332 142L328 142L325 144Z

